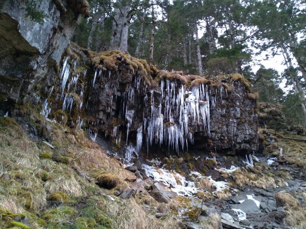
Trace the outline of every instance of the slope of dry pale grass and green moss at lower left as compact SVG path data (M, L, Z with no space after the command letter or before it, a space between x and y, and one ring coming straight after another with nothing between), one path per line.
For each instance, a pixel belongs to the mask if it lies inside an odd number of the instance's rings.
M40 125L45 124L41 119ZM123 200L114 196L115 189L129 187L124 179L132 174L82 131L52 124L49 134L55 149L31 141L13 119L0 118L1 228L179 227L173 204L166 205L169 215L159 220L142 208L143 203L158 206L152 197L137 194ZM103 189L89 182L108 171L116 174L116 188Z

